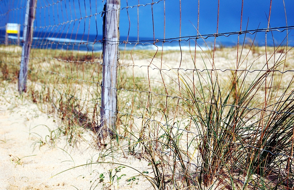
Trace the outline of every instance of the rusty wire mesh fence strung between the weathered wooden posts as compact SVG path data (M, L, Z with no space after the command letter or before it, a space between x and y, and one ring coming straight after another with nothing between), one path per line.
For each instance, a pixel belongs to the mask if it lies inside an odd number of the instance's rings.
M0 3L4 44L6 23L24 27L26 1ZM177 166L170 175L178 172L187 187L195 176L208 185L242 174L244 186L292 188L291 2L218 1L211 10L202 1L120 3L119 40L107 41L104 2L37 1L28 71L32 101L68 126L98 132L103 46L117 44L117 110L109 111L117 117L112 134L127 142L127 152L169 160ZM251 22L261 11L265 19ZM17 43L16 35L9 34L9 43ZM1 45L0 51L2 79L15 82L21 48ZM249 179L249 173L272 178Z

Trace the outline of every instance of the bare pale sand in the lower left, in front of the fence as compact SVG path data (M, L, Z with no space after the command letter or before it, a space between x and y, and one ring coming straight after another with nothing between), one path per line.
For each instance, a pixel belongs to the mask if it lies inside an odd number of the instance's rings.
M152 175L151 167L146 160L134 156L123 157L123 154L107 155L105 150L93 147L93 137L89 132L82 133L85 140L80 139L74 147L69 146L65 136L60 137L55 144L46 143L46 139L49 139L46 135L50 135L50 130L58 127L58 120L41 112L36 104L20 98L16 90L7 91L7 87L6 90L3 89L5 85L1 86L1 190L153 188L144 177L137 176L138 172L127 167L134 167L141 172L149 171ZM14 87L16 89L16 85ZM41 141L44 143L40 143ZM118 177L125 174L119 180L119 184L114 177L113 184L110 185L109 177L109 170L113 169L114 172L119 165L89 164L98 159L99 162L126 165L126 168L117 173ZM80 166L83 164L89 165ZM73 167L76 168L68 170ZM64 172L58 174L62 171ZM99 182L101 178L103 181Z

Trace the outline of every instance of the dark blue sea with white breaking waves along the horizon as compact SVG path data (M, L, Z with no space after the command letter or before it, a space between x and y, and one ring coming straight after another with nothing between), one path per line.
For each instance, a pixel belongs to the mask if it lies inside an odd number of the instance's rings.
M22 41L22 31L20 33L20 41ZM232 47L237 45L237 35L228 37L218 37L216 46ZM254 37L254 36L253 36ZM17 35L9 34L9 44L17 44ZM252 38L249 38L252 39ZM153 38L138 38L120 36L119 49L123 50L195 50L195 42L197 41L197 49L207 50L213 49L214 37L207 39L197 39L192 37L170 38L170 39L153 39ZM243 43L243 39L240 40ZM244 41L245 43L247 41ZM252 42L252 41L251 41ZM248 43L251 43L250 40ZM5 31L0 31L0 43L5 43ZM257 45L262 46L264 43L259 40ZM273 43L268 42L269 46ZM21 44L22 45L22 42ZM39 49L63 49L73 51L102 51L102 35L88 35L88 34L54 34L51 32L34 32L32 48Z

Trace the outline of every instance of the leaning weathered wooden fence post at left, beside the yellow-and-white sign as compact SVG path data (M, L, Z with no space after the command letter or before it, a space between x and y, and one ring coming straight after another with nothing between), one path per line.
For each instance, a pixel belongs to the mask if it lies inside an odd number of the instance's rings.
M18 78L18 92L27 91L27 76L28 76L28 61L31 51L32 39L33 39L33 26L36 13L37 0L27 0L27 7L25 12L25 26L23 36L23 46L21 52L21 68Z

